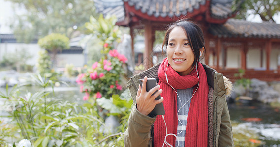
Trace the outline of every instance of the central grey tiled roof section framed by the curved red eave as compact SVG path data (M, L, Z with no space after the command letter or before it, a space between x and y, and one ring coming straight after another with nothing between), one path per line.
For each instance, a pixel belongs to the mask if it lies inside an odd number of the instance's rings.
M200 5L205 5L207 0L124 0L129 6L134 6L136 10L147 13L155 17L174 17L186 15L199 9Z

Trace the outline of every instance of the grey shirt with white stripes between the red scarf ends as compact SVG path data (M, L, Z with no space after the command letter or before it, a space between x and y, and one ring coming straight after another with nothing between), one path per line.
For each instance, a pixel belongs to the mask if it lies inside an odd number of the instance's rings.
M188 116L188 111L189 111L189 106L190 106L190 98L192 96L193 92L193 87L192 88L187 88L187 89L177 89L177 93L179 95L179 98L177 98L177 111L180 109L178 112L178 127L177 127L177 138L176 138L176 144L175 147L184 147L185 146L185 135L186 135L186 126L187 126L187 116ZM180 103L181 100L181 103ZM188 101L189 100L189 101ZM187 102L188 101L188 102ZM187 104L186 104L187 103ZM180 123L181 121L181 123Z

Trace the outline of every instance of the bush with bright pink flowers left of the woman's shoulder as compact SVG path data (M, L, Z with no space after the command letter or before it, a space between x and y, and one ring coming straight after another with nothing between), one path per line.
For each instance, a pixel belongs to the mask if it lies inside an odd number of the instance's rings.
M105 47L105 45L104 45ZM127 61L117 50L110 50L107 59L99 62L78 75L76 82L80 84L80 91L85 93L83 100L93 98L110 98L112 94L119 94L122 90L121 75L124 74L123 64Z

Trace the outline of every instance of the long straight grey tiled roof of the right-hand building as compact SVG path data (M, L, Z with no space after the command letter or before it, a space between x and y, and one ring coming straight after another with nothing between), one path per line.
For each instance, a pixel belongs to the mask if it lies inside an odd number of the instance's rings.
M225 24L211 24L209 33L218 37L232 38L280 38L280 24L253 23L245 20L229 19Z

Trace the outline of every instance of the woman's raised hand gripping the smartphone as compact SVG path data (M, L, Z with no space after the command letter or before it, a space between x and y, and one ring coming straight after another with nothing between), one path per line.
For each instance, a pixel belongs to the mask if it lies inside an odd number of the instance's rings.
M155 100L155 98L162 93L162 89L159 89L159 85L150 89L149 92L146 92L146 82L147 76L144 77L142 88L139 85L136 95L136 103L138 111L140 111L142 114L148 115L150 112L152 112L157 104L163 101L163 98L161 97L160 99ZM151 96L154 92L156 93Z

